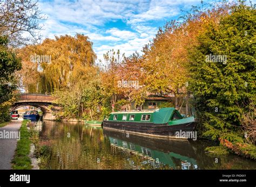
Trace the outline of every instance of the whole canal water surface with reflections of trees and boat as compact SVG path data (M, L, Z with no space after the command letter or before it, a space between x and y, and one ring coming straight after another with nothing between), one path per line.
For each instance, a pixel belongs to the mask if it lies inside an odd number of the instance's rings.
M210 156L206 141L156 139L84 123L38 121L41 169L256 169L237 155Z

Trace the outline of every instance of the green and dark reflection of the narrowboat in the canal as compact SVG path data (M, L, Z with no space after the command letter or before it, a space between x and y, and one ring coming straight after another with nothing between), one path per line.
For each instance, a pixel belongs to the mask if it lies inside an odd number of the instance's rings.
M103 130L103 133L112 146L142 155L154 164L167 164L173 169L198 169L196 154L188 140L159 139L110 130Z

